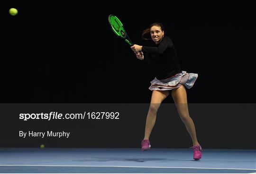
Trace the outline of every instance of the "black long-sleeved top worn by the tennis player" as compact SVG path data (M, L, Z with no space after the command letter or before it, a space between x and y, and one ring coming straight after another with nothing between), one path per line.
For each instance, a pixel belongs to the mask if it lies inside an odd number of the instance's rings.
M143 46L142 52L144 53L143 60L150 66L155 67L155 77L158 80L182 72L174 44L169 37L163 37L162 41L156 44L155 47Z

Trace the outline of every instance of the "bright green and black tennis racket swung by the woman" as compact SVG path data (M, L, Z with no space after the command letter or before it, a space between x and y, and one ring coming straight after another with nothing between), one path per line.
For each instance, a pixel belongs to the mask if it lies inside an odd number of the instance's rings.
M114 15L109 15L109 23L113 32L126 41L130 46L133 45L132 41L130 40L128 34L125 31L124 25L121 23L118 17ZM139 51L142 54L141 51Z

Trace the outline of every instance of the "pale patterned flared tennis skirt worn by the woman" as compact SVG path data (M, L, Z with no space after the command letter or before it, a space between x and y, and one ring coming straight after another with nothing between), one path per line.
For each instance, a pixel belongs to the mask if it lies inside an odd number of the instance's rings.
M149 87L149 89L151 91L166 91L172 90L174 88L179 88L181 85L184 85L186 88L190 89L194 85L197 77L198 74L187 73L186 71L182 71L181 73L164 80L158 80L157 78L153 79L150 82L151 86Z

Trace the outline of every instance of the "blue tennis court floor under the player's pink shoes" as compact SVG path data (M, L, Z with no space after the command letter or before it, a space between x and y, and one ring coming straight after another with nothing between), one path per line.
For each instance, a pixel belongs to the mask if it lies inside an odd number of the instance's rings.
M1 148L0 173L256 173L256 150Z

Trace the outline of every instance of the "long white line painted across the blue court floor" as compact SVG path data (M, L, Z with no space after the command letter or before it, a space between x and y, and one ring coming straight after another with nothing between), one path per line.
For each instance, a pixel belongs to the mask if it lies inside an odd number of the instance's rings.
M190 168L190 169L227 169L227 170L256 170L248 168L204 168L204 167L152 167L152 166L74 166L74 165L0 165L0 166L46 166L46 167L130 167L130 168Z

